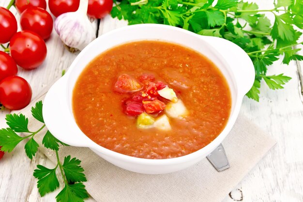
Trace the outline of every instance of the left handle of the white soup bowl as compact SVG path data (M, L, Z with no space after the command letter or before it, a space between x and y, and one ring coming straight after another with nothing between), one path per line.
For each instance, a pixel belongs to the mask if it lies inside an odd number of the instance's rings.
M45 95L43 118L47 129L62 142L78 147L89 147L91 140L76 125L66 97L66 75L60 78Z

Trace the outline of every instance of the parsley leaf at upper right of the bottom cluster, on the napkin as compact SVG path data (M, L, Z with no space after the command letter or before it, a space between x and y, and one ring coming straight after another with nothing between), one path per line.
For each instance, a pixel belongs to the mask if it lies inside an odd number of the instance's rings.
M71 156L65 156L63 162L63 171L68 182L86 182L84 169L80 166L81 161Z

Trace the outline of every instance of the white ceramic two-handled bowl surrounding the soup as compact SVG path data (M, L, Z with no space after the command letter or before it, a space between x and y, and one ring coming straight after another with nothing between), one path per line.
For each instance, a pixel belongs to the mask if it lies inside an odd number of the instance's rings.
M72 110L72 93L82 70L105 50L138 40L161 40L195 49L214 62L227 79L232 97L232 108L227 125L215 140L197 152L170 159L144 159L122 155L96 144L77 126ZM201 36L167 25L132 25L98 37L80 52L67 73L46 94L43 117L48 130L57 139L72 146L89 147L97 155L116 166L139 173L169 173L196 164L224 140L236 121L242 98L253 85L254 78L254 66L248 55L242 48L225 39Z

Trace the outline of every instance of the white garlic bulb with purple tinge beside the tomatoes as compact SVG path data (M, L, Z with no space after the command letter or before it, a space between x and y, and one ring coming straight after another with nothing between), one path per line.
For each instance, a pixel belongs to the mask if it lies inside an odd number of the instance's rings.
M64 13L55 20L55 30L63 43L74 49L82 50L96 38L91 21L87 16L89 0L80 0L76 12Z

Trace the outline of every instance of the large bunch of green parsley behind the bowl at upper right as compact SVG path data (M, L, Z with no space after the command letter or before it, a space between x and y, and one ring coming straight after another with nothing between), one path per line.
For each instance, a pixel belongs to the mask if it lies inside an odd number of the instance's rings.
M112 17L141 23L167 24L201 35L225 38L247 52L255 66L255 82L246 94L259 100L260 81L270 89L283 89L291 78L267 75L268 66L283 55L283 63L303 60L298 42L303 29L303 0L273 1L273 9L258 10L242 0L121 0L115 1ZM262 12L262 13L260 13ZM274 16L274 23L265 14ZM295 48L294 48L295 47ZM243 67L244 68L244 67Z

